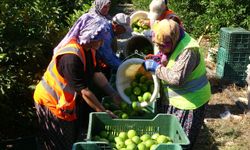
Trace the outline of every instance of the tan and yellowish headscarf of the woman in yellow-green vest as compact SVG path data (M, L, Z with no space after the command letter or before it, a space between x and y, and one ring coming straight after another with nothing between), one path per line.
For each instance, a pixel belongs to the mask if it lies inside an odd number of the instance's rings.
M156 21L153 25L153 38L156 43L165 45L166 39L169 37L172 41L172 51L177 43L183 38L184 31L178 23L173 20L163 19Z

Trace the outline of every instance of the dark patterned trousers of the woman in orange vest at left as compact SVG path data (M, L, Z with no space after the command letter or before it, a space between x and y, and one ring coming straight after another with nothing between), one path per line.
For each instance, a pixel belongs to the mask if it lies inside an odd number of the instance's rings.
M76 100L75 121L59 119L43 105L35 103L35 107L41 129L42 150L71 150L75 142L84 141L86 138L89 113L93 110L82 99Z

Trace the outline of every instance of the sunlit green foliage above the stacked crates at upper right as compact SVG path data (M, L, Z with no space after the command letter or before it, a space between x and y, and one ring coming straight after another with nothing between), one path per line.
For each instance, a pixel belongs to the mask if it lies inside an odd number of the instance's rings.
M169 8L183 20L187 32L195 38L209 35L216 44L221 27L250 30L249 3L250 0L169 0Z

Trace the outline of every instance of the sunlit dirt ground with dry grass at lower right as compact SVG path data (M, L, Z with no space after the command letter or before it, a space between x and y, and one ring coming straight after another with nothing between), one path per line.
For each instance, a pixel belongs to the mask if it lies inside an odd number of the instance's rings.
M202 40L201 46L207 50L208 43L208 40ZM215 63L207 61L206 64L212 97L194 150L249 150L250 113L246 109L247 85L224 83L215 76Z

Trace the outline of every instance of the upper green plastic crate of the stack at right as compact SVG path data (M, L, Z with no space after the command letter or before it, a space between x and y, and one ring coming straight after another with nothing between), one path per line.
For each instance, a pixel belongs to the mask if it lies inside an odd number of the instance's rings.
M243 28L221 28L219 45L229 51L250 51L250 31Z

